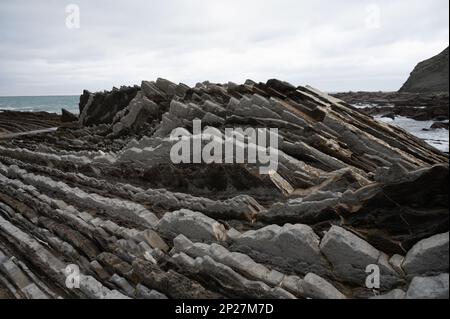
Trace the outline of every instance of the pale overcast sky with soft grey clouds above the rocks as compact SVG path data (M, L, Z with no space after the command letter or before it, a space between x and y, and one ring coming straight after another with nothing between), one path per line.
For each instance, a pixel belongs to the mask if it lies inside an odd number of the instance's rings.
M80 28L66 26L71 3ZM448 46L448 11L448 0L0 0L0 95L157 77L397 90Z

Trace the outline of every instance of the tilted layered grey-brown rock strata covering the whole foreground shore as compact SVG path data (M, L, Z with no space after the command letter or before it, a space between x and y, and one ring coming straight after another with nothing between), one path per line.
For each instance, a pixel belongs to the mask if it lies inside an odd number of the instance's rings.
M341 97L158 79L0 139L0 298L448 298L448 156ZM278 170L173 164L196 118L278 128Z

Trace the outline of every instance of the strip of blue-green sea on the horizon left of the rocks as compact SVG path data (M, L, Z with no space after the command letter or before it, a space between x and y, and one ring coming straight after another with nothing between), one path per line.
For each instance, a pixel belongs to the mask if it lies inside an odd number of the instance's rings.
M61 114L64 108L78 114L79 95L68 96L0 96L0 111L21 111Z

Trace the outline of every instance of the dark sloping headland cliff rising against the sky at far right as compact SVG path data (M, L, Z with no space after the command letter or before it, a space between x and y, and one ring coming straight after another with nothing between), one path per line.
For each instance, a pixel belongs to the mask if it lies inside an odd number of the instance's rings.
M448 92L449 48L420 62L400 92Z

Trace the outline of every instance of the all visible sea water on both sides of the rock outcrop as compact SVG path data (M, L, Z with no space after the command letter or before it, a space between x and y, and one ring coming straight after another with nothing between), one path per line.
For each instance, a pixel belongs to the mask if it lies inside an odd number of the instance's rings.
M61 109L66 109L74 114L79 113L78 103L80 97L78 95L67 96L0 96L0 111L23 111L23 112L39 112L45 111L50 113L61 114ZM363 108L370 105L355 105ZM373 105L374 107L376 105ZM443 151L449 152L449 134L447 130L428 130L433 122L431 121L415 121L412 119L397 117L395 120L389 118L376 117L377 120L387 122L391 125L397 125L411 134L425 140L430 145Z

